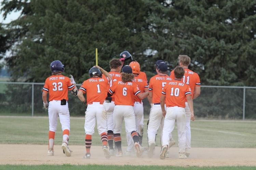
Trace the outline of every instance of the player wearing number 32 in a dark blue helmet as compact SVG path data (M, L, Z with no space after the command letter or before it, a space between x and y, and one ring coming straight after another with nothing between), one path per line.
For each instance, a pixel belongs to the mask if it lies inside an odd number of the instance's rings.
M77 96L76 82L62 73L64 72L64 65L56 60L51 63L52 75L45 80L43 86L43 105L48 109L49 115L49 148L48 155L53 156L54 137L57 130L57 119L59 116L63 131L63 142L61 148L66 156L71 156L71 150L68 148L68 138L70 131L70 119L68 110L68 90ZM49 92L49 103L47 102L47 93Z

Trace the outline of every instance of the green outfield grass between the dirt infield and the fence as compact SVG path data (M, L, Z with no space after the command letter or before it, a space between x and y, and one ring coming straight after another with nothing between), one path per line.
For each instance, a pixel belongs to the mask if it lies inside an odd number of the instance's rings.
M84 117L71 118L70 145L84 145ZM144 121L143 146L147 146L147 125ZM207 148L255 148L256 121L196 120L191 122L192 147ZM0 143L48 145L48 117L5 117L0 116ZM122 144L126 136L122 130ZM177 147L177 129L173 137ZM61 126L58 121L55 143L62 142ZM101 145L95 127L92 145ZM157 135L160 146L160 131Z

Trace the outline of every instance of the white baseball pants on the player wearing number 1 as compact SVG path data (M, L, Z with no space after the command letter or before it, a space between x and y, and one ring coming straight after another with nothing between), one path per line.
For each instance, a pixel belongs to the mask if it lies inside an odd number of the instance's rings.
M84 122L85 134L94 134L96 121L99 135L103 132L107 133L107 117L105 107L103 104L99 104L99 102L93 102L93 104L89 104L87 106Z

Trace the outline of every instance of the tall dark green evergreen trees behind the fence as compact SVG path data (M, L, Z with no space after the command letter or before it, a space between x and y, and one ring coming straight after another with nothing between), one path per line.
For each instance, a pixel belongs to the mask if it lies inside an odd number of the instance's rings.
M255 0L3 0L21 16L0 26L0 59L12 81L43 82L60 60L78 83L95 65L109 70L127 50L150 78L157 60L170 70L179 54L202 85L256 86Z

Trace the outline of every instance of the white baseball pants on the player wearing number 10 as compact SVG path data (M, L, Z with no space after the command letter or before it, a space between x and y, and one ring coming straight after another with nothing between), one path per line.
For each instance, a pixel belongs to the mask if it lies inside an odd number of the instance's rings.
M186 113L183 107L167 107L162 134L162 146L169 146L169 133L174 129L175 120L177 121L179 152L184 153L186 145Z

